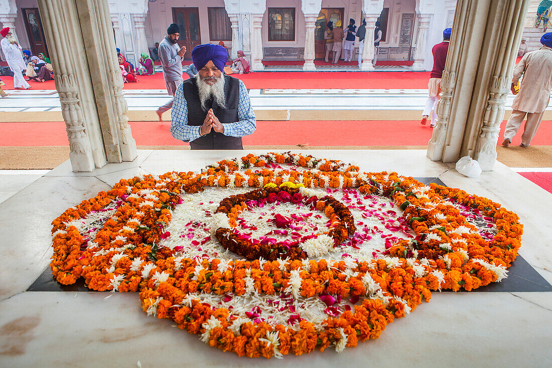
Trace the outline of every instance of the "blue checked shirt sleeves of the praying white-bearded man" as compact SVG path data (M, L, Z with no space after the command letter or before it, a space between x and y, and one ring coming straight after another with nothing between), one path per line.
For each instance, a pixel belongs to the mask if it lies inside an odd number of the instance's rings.
M176 94L174 94L174 102L171 110L171 134L174 138L190 142L195 139L198 139L201 135L199 134L199 127L188 125L188 105L186 99L184 98L184 92L182 89L182 84L178 86ZM242 81L240 81L240 101L238 102L238 122L227 124L222 123L224 127L224 135L241 137L248 134L251 134L257 129L257 120L255 118L255 113L253 112L253 107L251 106L251 101L249 99L249 94L247 93L247 88ZM212 128L211 128L212 129Z

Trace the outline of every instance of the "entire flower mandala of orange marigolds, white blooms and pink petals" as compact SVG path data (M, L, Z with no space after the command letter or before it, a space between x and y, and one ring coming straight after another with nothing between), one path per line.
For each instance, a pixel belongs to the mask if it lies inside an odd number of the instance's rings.
M121 180L52 225L57 281L139 291L251 358L378 338L432 290L501 281L523 233L489 199L291 153Z

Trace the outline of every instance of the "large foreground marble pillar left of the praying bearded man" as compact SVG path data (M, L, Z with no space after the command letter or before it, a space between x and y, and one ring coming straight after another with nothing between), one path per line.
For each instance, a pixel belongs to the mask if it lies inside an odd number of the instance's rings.
M39 0L73 171L132 160L113 31L103 0ZM72 52L67 52L72 50Z

